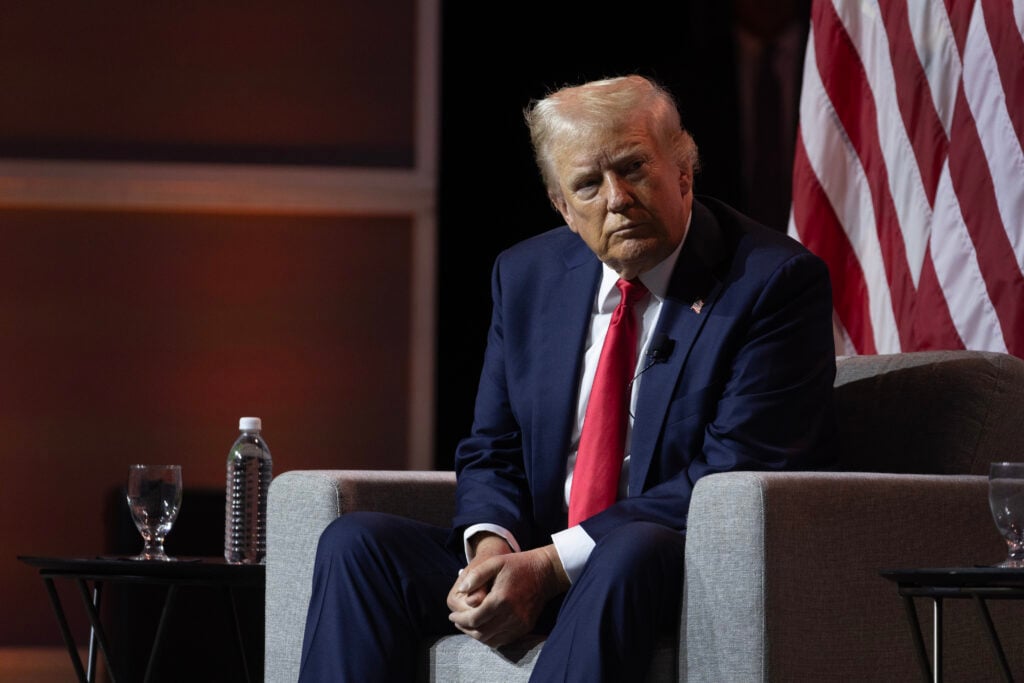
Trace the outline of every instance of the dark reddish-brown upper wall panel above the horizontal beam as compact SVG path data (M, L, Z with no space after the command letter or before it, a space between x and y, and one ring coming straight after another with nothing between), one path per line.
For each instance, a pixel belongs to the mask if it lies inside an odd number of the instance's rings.
M412 167L414 0L6 3L0 156Z

